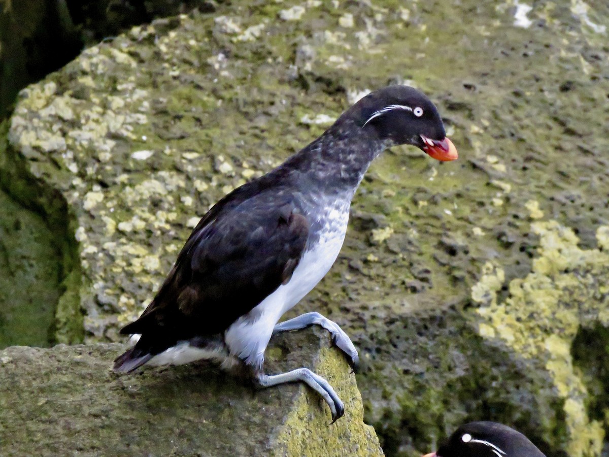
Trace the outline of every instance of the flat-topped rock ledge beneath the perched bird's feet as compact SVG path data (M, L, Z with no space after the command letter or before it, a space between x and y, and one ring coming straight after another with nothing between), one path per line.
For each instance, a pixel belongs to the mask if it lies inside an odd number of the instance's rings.
M121 344L0 351L2 455L381 456L342 355L322 330L273 339L269 372L303 364L345 402L329 410L304 386L256 391L202 364L110 370ZM275 371L273 371L275 370Z

